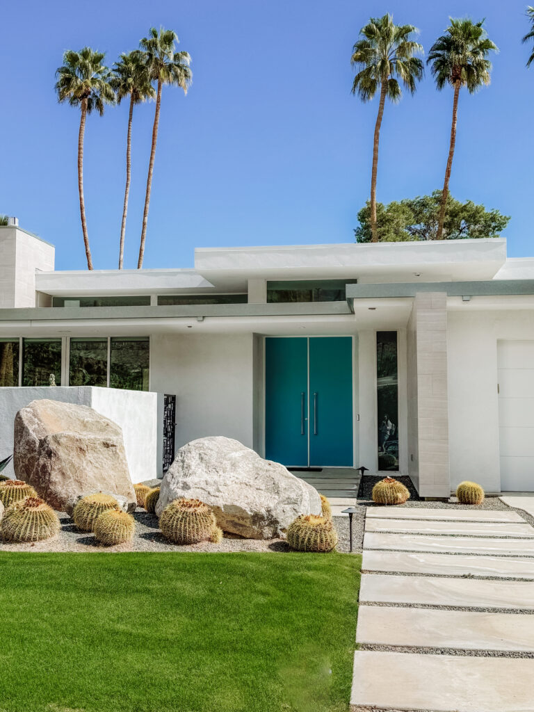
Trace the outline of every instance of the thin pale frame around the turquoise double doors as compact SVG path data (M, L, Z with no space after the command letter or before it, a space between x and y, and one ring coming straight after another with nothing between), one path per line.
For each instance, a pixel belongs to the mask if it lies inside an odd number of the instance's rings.
M345 337L345 338L350 338L351 344L352 344L352 360L351 360L351 367L352 367L352 467L356 466L356 461L357 461L357 447L359 444L358 441L358 425L360 421L360 416L358 415L358 361L357 361L357 334L347 334L347 333L342 333L342 334L308 334L308 335L295 335L294 333L292 334L283 334L283 335L278 335L278 334L273 334L273 335L263 335L261 337L261 352L262 352L262 358L261 358L261 398L262 398L262 403L261 403L261 456L265 457L266 454L266 339L307 339L308 342L310 339L314 338L336 338L336 337ZM308 347L308 394L310 392L310 349ZM310 423L310 398L308 397L308 466L310 463L310 436L309 436L309 423ZM292 467L292 465L286 466L288 468ZM299 465L295 465L295 467L301 467ZM321 467L321 465L315 465L314 467ZM324 467L330 468L330 465L325 465ZM343 469L343 466L333 466L333 469Z

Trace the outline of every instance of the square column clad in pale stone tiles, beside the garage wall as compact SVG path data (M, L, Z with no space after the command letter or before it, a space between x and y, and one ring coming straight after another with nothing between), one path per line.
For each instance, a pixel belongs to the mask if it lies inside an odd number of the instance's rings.
M446 293L419 292L408 323L409 471L422 497L449 497Z

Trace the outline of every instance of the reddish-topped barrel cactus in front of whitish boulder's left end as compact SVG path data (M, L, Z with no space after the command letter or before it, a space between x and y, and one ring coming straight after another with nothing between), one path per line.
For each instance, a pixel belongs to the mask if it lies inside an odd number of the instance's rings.
M222 532L211 508L199 499L176 499L162 512L159 528L175 544L217 543Z

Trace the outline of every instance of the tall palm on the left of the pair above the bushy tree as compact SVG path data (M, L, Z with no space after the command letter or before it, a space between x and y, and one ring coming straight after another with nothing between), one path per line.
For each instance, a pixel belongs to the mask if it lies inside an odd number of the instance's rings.
M418 30L413 25L395 25L392 15L371 18L362 27L360 36L352 48L352 66L362 67L352 82L352 94L363 102L371 100L380 92L378 115L375 123L375 142L372 152L371 174L371 230L372 241L378 242L377 230L377 169L380 126L384 115L386 98L397 102L402 96L399 78L410 93L424 72L423 62L414 57L422 53L420 44L410 38Z

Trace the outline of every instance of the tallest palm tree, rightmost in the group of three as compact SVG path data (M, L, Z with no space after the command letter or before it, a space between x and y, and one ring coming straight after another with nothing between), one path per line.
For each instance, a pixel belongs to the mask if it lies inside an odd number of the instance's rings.
M156 154L157 129L159 126L159 110L162 103L162 88L164 84L176 85L184 90L184 94L187 94L187 89L192 80L192 73L189 69L191 57L187 52L175 51L174 43L178 42L178 36L174 31L160 28L158 32L155 27L150 28L149 36L140 41L140 47L145 55L145 65L150 74L150 80L157 83L157 93L137 269L142 268L143 256L145 255L148 206L150 204L150 190L152 189L152 173L154 172L154 157Z

